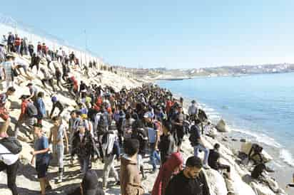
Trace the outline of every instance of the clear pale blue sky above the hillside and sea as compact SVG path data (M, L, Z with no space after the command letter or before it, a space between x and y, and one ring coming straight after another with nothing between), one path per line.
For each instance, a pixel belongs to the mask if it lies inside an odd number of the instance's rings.
M294 63L294 1L1 1L1 14L132 68ZM86 30L86 33L85 33Z

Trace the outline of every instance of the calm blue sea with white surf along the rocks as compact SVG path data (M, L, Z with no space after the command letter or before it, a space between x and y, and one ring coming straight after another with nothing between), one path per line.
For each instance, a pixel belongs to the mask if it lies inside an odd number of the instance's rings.
M195 99L213 122L223 118L233 131L274 147L279 155L275 159L294 166L294 73L160 81L158 85Z

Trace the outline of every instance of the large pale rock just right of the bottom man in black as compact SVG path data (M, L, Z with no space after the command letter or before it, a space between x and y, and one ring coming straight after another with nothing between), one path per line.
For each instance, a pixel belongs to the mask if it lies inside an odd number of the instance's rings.
M209 187L209 191L211 192L211 195L228 194L228 190L225 186L225 180L223 179L223 176L221 176L219 172L217 172L214 169L208 169L204 171L204 174L206 176L206 180L208 181L208 187Z

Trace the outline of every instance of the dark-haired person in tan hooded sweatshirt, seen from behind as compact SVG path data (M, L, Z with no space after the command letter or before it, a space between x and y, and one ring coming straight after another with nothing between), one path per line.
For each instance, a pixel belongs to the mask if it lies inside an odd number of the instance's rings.
M139 142L137 139L128 139L124 143L126 154L121 157L121 194L141 195L144 193L141 186L141 176L138 172L137 155Z

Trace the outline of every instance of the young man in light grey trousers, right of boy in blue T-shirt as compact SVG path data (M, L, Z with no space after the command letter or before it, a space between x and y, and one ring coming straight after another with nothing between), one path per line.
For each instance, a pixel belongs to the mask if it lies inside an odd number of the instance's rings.
M59 166L58 180L57 182L62 182L64 173L64 139L66 140L66 154L69 153L69 139L66 135L65 126L62 124L61 117L55 116L52 118L54 126L51 127L49 143L52 142L52 149L54 157L57 158L57 164Z

